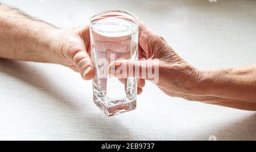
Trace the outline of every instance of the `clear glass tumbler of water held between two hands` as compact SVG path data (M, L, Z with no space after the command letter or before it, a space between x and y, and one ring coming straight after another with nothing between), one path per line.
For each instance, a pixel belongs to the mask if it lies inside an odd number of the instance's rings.
M137 79L109 77L109 64L138 60L138 18L123 10L108 10L90 18L91 57L96 67L93 101L107 116L136 108Z

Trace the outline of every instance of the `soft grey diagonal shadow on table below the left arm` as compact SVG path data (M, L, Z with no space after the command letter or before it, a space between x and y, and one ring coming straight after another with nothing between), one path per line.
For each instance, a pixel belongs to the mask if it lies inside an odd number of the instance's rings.
M72 129L74 125L76 125L76 128L79 128L78 134L74 132L70 133L71 137L75 136L74 140L88 140L88 135L90 134L93 135L90 140L119 140L119 138L122 140L131 140L129 130L126 126L119 124L119 121L114 117L110 120L108 119L109 117L106 117L103 113L90 113L89 115L82 113L81 107L79 107L79 104L76 104L76 98L65 98L68 94L72 94L72 91L65 91L63 88L55 84L55 81L44 74L42 70L33 67L32 64L0 58L0 73L5 73L10 75L10 77L14 77L22 82L28 83L28 85L35 87L36 90L44 91L45 94L48 94L55 99L53 100L55 102L54 104L61 107L61 109L64 108L61 112L64 112L65 116L68 116L68 119L65 120L72 120L72 122L75 122L71 125L68 125L70 123L67 122L69 129ZM42 77L35 77L35 73L40 73ZM52 84L51 88L44 85L46 82ZM71 110L72 113L70 113ZM75 120L73 120L74 117L76 118ZM120 132L117 132L117 126ZM111 134L111 137L106 136L106 134Z

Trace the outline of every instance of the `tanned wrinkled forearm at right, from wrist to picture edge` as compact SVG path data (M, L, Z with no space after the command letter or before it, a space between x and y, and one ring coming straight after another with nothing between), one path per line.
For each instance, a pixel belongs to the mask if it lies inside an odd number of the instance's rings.
M204 71L200 84L201 95L256 104L256 65Z

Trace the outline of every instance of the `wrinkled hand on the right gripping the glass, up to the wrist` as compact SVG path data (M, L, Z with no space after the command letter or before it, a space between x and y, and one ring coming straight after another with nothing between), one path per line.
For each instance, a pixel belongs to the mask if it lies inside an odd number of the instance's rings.
M119 78L137 77L147 79L155 83L160 90L169 96L187 100L212 99L211 97L198 96L200 92L196 91L197 84L200 82L203 74L178 56L163 37L152 32L143 23L139 27L139 45L139 56L145 60L112 62L110 68L114 68L115 71L110 73L111 75L118 77L118 67L126 67L127 70L132 67L133 69L138 69L139 74L127 73L125 76L119 75ZM152 71L158 72L158 74L154 74L158 78L149 77L149 71L143 70L148 67L152 67Z

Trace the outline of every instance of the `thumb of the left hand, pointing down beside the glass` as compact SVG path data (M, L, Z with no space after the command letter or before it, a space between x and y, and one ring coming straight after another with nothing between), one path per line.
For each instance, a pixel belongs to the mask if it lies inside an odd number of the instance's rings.
M85 50L77 52L72 61L73 64L76 65L77 70L83 79L89 80L94 77L95 69L93 67L92 60L90 60L90 57Z

